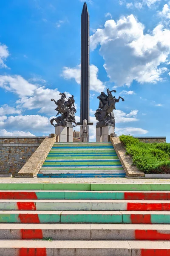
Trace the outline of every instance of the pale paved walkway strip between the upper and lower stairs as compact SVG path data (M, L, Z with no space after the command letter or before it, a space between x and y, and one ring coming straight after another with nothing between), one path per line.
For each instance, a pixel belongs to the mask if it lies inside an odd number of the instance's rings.
M132 179L132 178L12 178L0 177L0 183L166 183L170 179Z

